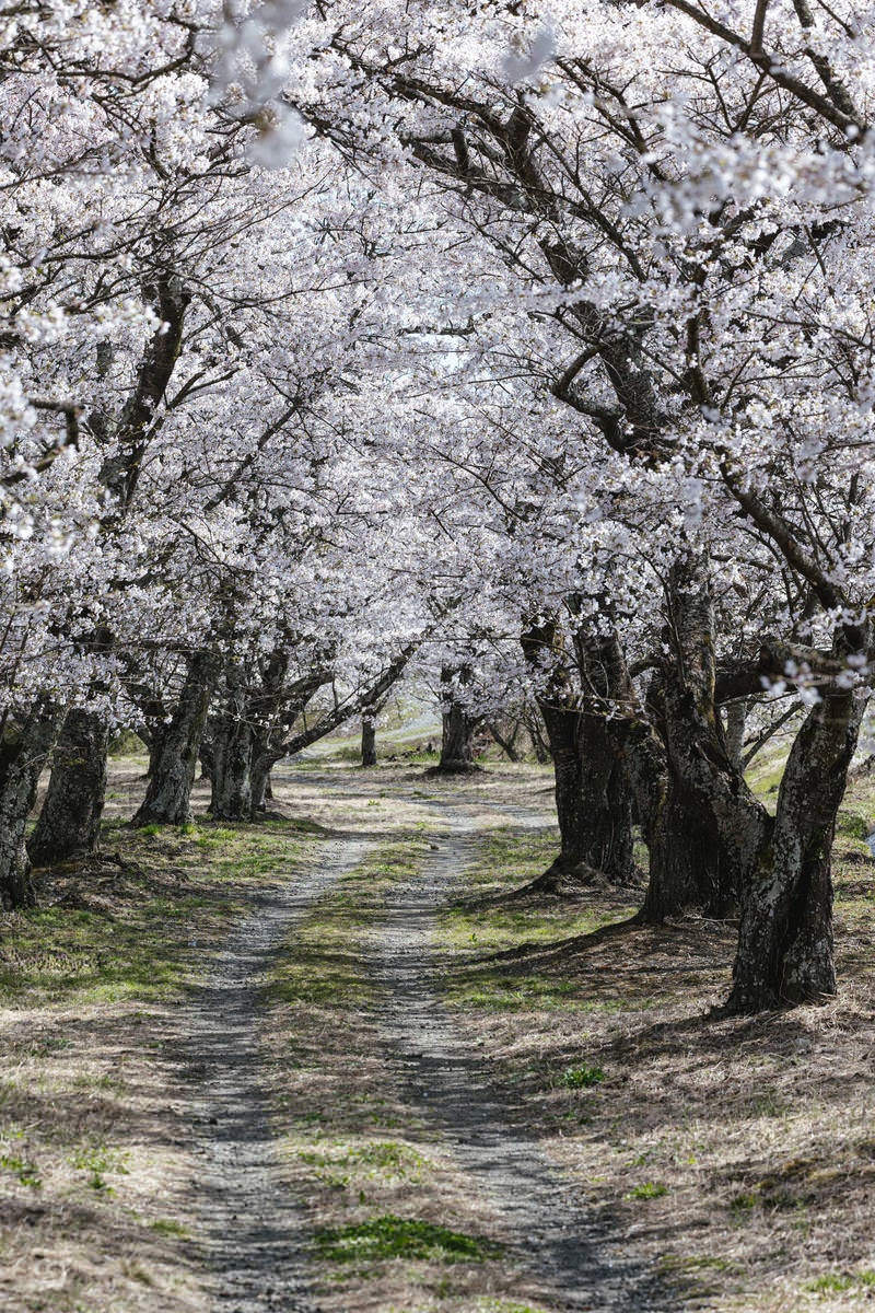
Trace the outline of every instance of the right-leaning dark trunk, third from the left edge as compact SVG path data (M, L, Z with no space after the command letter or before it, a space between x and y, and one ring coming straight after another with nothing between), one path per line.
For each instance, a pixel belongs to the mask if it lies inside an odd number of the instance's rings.
M176 710L156 738L159 751L146 797L134 817L135 826L185 825L192 819L192 785L201 738L215 684L215 659L195 653L189 660Z

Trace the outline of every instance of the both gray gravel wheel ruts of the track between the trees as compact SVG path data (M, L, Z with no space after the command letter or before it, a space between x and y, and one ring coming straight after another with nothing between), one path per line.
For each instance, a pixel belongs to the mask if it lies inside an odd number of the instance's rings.
M348 776L323 773L299 775L295 783L328 786L335 797L354 797L359 789ZM459 793L458 801L420 801L405 789L395 798L428 825L436 851L418 878L395 890L366 941L366 969L382 998L378 1027L387 1061L417 1119L433 1128L471 1194L499 1218L502 1262L519 1274L526 1292L543 1292L539 1306L551 1313L666 1308L648 1272L618 1253L603 1226L586 1216L579 1192L521 1124L518 1109L514 1115L488 1064L470 1050L438 998L437 914L447 898L458 897L483 826L506 826L508 813L521 830L550 823L546 811ZM294 955L295 922L375 838L363 825L349 827L325 846L304 884L264 897L190 1003L186 1049L189 1075L202 1085L194 1115L216 1313L304 1313L320 1306L308 1292L306 1222L279 1179L272 1140L258 1060L261 985L283 940Z

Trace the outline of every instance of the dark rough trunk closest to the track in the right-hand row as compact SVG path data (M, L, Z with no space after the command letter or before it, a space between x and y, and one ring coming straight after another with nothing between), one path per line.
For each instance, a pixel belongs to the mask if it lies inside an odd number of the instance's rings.
M538 666L543 653L555 650L556 641L554 625L533 628L523 635L523 653ZM624 668L614 635L579 637L576 649L586 688L585 706L560 660L538 699L554 760L561 838L559 857L543 884L550 888L598 873L626 885L635 874L632 800L622 751L626 726L589 709L609 689L619 691Z

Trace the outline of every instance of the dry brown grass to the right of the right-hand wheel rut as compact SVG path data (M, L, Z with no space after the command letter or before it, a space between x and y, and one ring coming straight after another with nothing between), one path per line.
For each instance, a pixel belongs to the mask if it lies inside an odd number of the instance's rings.
M875 1299L875 881L853 839L837 856L841 993L820 1006L711 1019L736 927L693 919L450 976L460 1024L527 1124L701 1308ZM628 909L592 895L565 914L609 911ZM548 1006L529 1002L533 978ZM573 1070L592 1083L569 1088Z

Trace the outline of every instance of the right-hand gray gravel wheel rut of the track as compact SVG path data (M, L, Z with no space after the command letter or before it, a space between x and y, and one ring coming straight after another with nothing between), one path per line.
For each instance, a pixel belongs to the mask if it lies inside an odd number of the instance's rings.
M517 814L521 827L538 819ZM378 978L388 994L383 1032L411 1092L502 1217L508 1258L543 1285L551 1306L563 1313L668 1308L649 1274L580 1209L571 1182L518 1124L436 994L437 910L458 889L478 829L462 809L447 811L446 821L451 836L441 840L420 880L397 889L374 941Z

